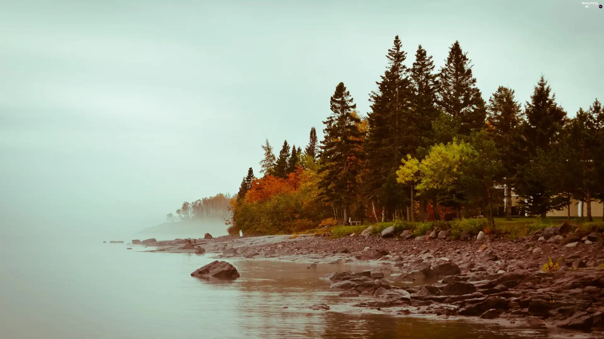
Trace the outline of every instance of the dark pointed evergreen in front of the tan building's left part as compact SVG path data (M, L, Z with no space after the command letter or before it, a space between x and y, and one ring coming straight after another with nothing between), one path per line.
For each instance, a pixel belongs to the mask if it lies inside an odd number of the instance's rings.
M544 77L535 86L531 101L526 103L525 116L520 130L523 157L518 167L516 192L524 198L522 205L530 214L545 218L548 211L560 205L554 198L559 194L559 187L551 168L559 165L554 160L554 137L564 126L566 112L557 106Z

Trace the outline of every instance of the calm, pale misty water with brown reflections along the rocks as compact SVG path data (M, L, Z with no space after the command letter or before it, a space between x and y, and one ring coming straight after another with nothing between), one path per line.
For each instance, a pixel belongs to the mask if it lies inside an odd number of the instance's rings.
M231 261L241 278L190 273L208 256L143 253L126 244L3 246L0 338L546 338L461 321L298 309L341 299L318 277L353 266ZM360 269L361 267L356 267ZM306 282L318 281L315 285ZM284 309L284 307L288 307ZM567 337L556 335L555 337Z

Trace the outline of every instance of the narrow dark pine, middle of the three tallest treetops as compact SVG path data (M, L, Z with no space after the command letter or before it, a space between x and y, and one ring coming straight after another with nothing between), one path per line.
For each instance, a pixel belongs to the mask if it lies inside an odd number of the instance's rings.
M417 125L416 130L419 131L416 145L422 148L430 147L434 144L432 121L439 115L436 107L438 74L434 73L432 55L428 56L422 45L417 48L416 61L411 68L410 78L414 90L412 97L414 122Z

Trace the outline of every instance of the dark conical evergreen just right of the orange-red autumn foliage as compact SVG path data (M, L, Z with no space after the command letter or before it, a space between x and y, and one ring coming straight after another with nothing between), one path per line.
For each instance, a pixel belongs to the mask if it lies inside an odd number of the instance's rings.
M353 114L353 98L346 90L344 83L336 86L330 98L332 114L323 123L324 140L321 142L321 180L324 200L333 206L341 206L344 224L348 223L349 207L358 192L357 175L360 171L358 162L363 154L361 148L361 133L356 124L361 122Z

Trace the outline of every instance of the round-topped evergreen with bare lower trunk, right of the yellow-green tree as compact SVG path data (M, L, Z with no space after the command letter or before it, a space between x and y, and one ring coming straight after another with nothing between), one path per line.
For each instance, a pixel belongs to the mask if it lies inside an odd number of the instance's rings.
M516 176L516 164L521 162L522 153L518 150L518 128L523 121L520 103L515 100L514 91L499 86L489 98L487 131L497 145L503 165L503 182L506 184L506 219L512 220L512 189Z

